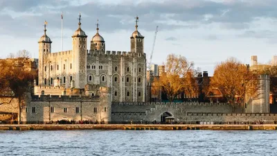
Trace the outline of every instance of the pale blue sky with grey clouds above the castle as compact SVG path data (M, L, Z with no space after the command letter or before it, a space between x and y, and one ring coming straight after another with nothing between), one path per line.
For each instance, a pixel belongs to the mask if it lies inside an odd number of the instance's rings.
M62 51L61 12L64 51L72 49L80 12L89 40L99 19L106 51L130 51L134 17L139 16L138 29L150 58L159 26L154 64L163 64L168 54L175 53L211 76L216 64L231 57L250 64L251 55L258 55L260 63L277 55L276 0L0 0L0 58L22 49L38 58L44 20L52 52Z

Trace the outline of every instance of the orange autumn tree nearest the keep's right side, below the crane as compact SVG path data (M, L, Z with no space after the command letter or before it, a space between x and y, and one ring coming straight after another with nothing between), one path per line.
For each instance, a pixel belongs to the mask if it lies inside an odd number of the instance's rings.
M154 78L152 93L162 90L167 94L170 103L178 94L196 94L197 85L194 78L196 71L193 62L188 62L184 56L170 54L164 65L166 72Z

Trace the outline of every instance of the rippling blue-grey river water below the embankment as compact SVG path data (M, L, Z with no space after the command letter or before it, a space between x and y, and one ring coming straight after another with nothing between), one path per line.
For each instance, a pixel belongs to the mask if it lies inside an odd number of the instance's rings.
M0 131L0 155L277 155L277 131Z

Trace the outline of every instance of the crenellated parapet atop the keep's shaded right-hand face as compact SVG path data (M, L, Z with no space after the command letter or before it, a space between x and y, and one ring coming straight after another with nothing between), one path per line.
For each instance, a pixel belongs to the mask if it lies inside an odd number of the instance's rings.
M130 51L95 51L95 50L87 50L87 55L127 55L127 56L133 56L135 53L132 53ZM142 54L146 57L146 53Z

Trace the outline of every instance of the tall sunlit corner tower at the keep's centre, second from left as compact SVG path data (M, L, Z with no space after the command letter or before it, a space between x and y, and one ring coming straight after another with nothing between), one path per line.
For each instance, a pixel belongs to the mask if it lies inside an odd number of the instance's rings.
M87 84L87 35L81 28L81 14L78 25L79 28L72 36L73 70L75 71L73 80L75 80L75 88L84 88Z

